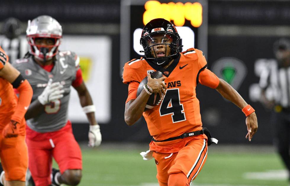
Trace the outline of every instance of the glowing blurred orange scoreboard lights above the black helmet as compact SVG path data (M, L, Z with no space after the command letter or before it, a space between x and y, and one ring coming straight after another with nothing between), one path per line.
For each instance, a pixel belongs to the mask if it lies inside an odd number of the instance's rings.
M198 2L193 4L190 2L161 4L159 1L147 1L144 7L146 9L143 14L144 25L156 18L173 20L176 26L183 26L185 19L189 20L194 27L199 27L202 24L202 5Z

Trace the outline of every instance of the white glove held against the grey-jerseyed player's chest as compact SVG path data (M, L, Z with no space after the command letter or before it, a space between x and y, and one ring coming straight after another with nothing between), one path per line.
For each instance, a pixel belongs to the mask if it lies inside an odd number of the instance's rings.
M38 101L42 105L46 105L51 101L62 98L63 93L65 92L62 88L63 86L59 82L52 83L52 79L49 79L47 86L38 96Z

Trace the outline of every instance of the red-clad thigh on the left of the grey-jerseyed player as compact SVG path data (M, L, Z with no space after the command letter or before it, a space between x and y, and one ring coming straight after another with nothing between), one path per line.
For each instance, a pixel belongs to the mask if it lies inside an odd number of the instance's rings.
M29 170L36 185L49 185L52 169L52 151L49 140L26 139L29 155Z

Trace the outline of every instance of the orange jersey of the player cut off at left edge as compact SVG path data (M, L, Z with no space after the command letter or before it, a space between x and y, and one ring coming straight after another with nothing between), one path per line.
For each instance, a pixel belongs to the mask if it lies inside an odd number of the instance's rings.
M0 69L8 62L8 56L0 47ZM17 96L13 86L6 79L0 77L0 130L10 121L17 106Z

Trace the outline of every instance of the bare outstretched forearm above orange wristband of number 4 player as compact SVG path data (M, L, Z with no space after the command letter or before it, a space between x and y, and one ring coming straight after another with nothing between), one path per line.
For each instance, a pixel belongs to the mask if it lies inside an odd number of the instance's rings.
M241 95L227 82L220 78L220 83L216 90L227 100L237 105L240 109L247 106L247 102L241 97Z

